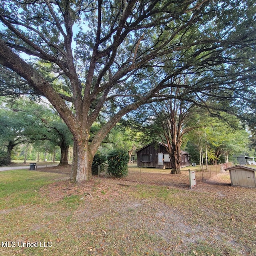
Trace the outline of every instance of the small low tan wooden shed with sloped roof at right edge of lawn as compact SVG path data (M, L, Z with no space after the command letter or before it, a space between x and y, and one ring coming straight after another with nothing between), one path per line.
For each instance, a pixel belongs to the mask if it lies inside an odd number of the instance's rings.
M256 188L256 169L244 165L236 165L226 168L225 171L229 171L232 186Z

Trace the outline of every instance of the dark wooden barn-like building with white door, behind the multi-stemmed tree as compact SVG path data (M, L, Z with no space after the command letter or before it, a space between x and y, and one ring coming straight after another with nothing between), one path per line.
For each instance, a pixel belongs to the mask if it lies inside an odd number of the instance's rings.
M161 142L152 142L135 152L138 167L171 168L170 154ZM180 167L190 166L190 155L181 151Z

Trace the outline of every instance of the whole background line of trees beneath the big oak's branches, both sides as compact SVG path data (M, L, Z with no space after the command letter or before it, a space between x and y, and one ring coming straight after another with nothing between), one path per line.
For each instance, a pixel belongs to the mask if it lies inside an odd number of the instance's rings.
M2 164L11 160L38 161L39 156L41 160L57 158L61 165L72 162L72 134L50 105L25 96L16 100L2 97L0 113ZM202 166L234 161L238 154L253 155L253 133L234 115L222 113L221 117L212 117L205 109L179 100L150 104L123 118L98 152L107 156L119 148L132 159L136 150L155 140L171 149L176 147L176 159L180 150L186 150L191 162ZM95 131L98 126L100 123L94 124ZM170 154L173 157L175 151L170 150ZM173 170L180 170L177 161Z

